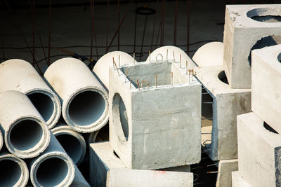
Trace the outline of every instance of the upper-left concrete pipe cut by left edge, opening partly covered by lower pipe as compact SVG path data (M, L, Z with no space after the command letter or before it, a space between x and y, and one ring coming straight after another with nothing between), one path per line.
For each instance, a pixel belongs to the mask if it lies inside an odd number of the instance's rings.
M60 118L60 99L29 62L7 60L0 65L0 92L17 90L30 98L51 129Z

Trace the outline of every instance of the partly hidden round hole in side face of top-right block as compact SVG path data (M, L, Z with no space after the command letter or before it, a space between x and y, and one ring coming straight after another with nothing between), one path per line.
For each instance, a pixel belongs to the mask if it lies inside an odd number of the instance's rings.
M259 41L256 41L253 47L251 47L251 51L255 49L261 49L268 46L275 46L281 43L281 36L266 36L261 38ZM248 56L249 65L251 67L251 51Z

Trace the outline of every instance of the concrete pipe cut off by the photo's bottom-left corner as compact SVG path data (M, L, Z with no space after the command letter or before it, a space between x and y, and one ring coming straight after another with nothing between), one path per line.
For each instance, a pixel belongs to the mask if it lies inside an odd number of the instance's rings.
M0 153L0 186L27 185L29 173L23 160L10 153Z

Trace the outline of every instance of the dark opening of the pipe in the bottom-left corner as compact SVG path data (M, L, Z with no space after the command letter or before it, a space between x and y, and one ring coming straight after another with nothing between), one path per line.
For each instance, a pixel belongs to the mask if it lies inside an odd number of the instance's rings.
M0 160L0 186L14 186L21 175L22 169L17 162L9 159Z

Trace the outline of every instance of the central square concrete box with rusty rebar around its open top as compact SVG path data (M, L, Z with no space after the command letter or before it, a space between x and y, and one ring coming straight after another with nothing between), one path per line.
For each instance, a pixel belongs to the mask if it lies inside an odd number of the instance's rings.
M200 162L201 84L185 73L169 61L110 69L110 144L128 168Z

